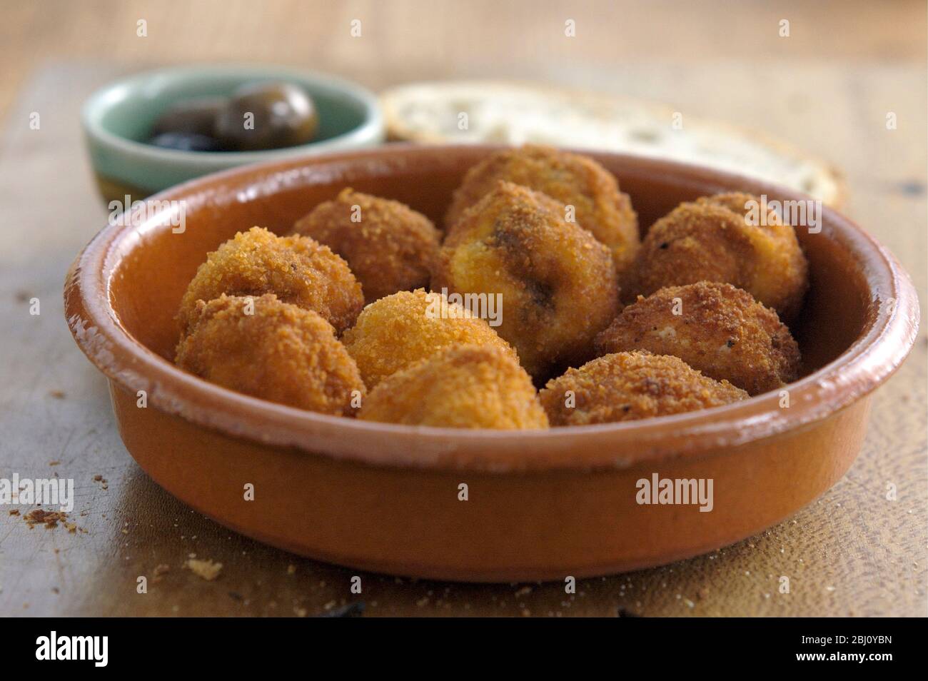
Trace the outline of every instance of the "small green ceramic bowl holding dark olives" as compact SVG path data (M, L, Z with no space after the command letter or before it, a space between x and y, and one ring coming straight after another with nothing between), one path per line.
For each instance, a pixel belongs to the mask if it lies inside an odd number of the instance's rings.
M146 143L152 123L175 102L227 96L238 85L286 81L312 96L319 112L316 139L267 151L177 151ZM238 165L350 148L384 138L377 97L360 85L323 73L275 66L192 66L147 71L97 90L84 103L84 136L100 193L107 201L144 199L169 186Z

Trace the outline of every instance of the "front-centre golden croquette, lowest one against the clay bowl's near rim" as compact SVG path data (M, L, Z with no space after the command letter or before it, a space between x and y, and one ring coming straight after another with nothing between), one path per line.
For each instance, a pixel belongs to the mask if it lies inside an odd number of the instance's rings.
M445 428L548 428L532 379L494 345L447 347L380 381L358 413L367 421Z

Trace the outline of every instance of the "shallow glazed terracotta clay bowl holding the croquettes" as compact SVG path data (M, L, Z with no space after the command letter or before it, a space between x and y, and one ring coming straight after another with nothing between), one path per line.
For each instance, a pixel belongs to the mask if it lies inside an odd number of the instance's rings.
M818 234L797 229L811 289L793 325L806 375L789 386L787 408L770 392L622 424L414 428L264 402L172 364L181 294L227 238L252 225L284 233L344 186L441 224L463 173L493 149L387 147L251 166L159 194L185 201L183 233L172 231L170 210L103 229L71 267L66 315L110 379L122 441L148 475L227 527L304 556L474 582L562 580L694 556L787 518L844 475L867 429L870 392L909 352L918 308L896 259L829 209ZM619 177L643 227L723 190L805 199L697 167L591 155ZM638 505L636 483L653 473L712 479L714 508Z

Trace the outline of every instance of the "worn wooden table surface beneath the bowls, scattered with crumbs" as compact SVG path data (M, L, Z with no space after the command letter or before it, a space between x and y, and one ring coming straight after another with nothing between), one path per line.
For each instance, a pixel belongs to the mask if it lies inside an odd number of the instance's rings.
M0 26L0 478L75 481L64 525L0 515L0 615L303 615L359 597L354 571L252 542L191 511L135 465L106 383L61 310L64 273L106 212L77 111L142 66L294 63L374 88L519 77L663 100L778 135L840 167L844 210L926 298L925 6L894 3L22 3ZM839 10L840 6L840 10ZM348 21L363 20L363 38ZM792 37L777 37L780 19ZM148 37L135 36L137 19ZM563 21L578 37L565 44ZM29 116L41 113L40 130ZM888 131L887 111L898 129ZM40 315L30 315L38 298ZM922 307L924 315L924 307ZM663 568L578 584L459 585L364 576L367 615L924 615L928 339L875 394L844 479L791 520ZM814 453L810 453L814 456ZM54 463L54 465L52 465ZM99 479L96 479L99 476ZM896 499L886 498L887 485ZM207 582L190 554L223 563ZM156 568L168 566L157 580ZM148 577L148 593L136 579ZM781 595L780 575L792 593Z

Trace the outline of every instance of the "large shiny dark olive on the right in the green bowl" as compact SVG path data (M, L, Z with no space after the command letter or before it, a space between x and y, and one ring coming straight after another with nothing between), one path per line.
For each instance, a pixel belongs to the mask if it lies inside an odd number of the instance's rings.
M247 84L233 93L216 119L216 137L229 149L293 147L316 135L316 105L288 83Z

